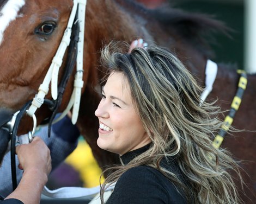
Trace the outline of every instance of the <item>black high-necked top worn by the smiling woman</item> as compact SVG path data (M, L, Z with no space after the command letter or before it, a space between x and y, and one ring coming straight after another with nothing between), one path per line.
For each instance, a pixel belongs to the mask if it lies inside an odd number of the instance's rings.
M133 158L142 154L149 148L149 145L143 148L127 152L121 156L124 165ZM161 162L164 168L169 167L174 172L180 172L178 165L174 161ZM179 174L179 173L178 173ZM180 176L180 174L178 175ZM106 204L185 204L186 199L176 190L174 184L167 179L159 170L141 165L127 170L120 176L115 184L112 195Z

